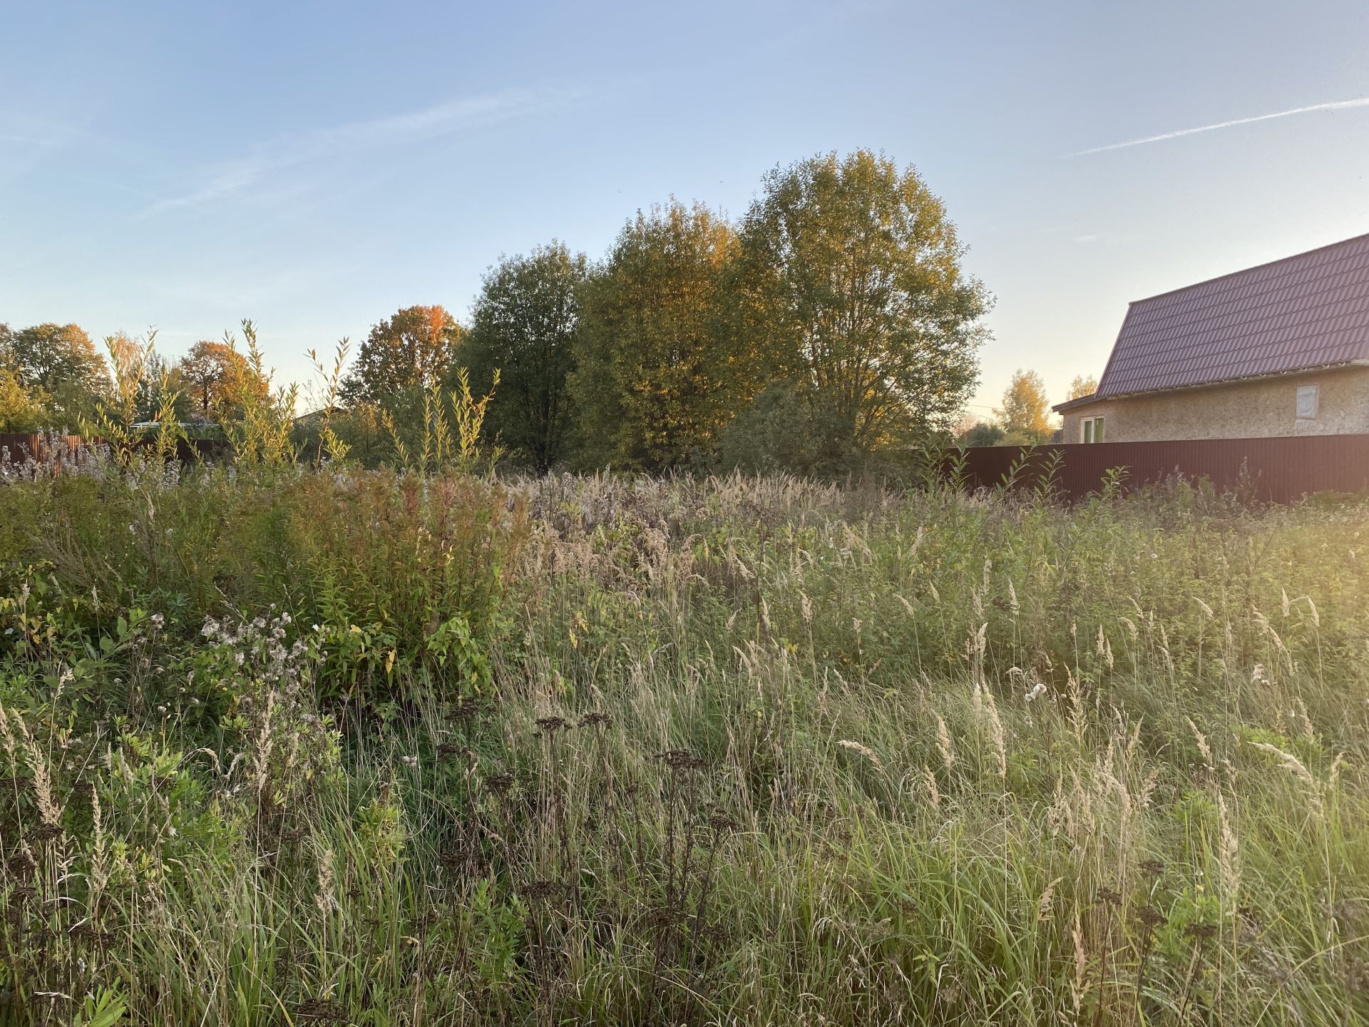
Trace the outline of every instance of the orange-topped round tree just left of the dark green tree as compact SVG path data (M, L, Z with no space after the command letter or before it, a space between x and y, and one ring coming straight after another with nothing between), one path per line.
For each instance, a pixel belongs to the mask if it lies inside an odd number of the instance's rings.
M445 307L405 307L371 333L342 382L349 404L386 404L401 393L424 393L452 370L461 326Z

